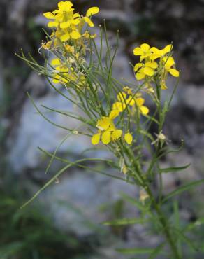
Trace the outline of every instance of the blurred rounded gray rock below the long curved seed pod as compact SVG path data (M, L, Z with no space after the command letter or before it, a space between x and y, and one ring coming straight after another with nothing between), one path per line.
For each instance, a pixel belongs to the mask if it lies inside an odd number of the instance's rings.
M123 177L120 172L116 173ZM58 228L73 230L77 235L84 236L101 228L101 222L110 220L112 204L121 198L120 192L138 197L138 188L124 181L86 171L68 170L58 184L43 192L41 202L50 209ZM101 209L108 204L110 209ZM123 214L136 216L138 211L126 204ZM103 228L107 230L108 227Z

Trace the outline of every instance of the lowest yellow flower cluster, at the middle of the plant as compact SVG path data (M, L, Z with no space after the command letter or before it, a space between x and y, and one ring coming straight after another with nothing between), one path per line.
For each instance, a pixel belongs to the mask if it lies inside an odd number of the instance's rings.
M109 116L103 116L96 123L96 127L99 129L98 133L92 136L92 144L99 144L101 139L102 143L107 145L111 141L116 141L122 137L122 130L119 130L115 127L113 120L119 115L119 111L112 110L110 111ZM127 132L124 134L124 140L127 144L131 144L133 141L132 135Z

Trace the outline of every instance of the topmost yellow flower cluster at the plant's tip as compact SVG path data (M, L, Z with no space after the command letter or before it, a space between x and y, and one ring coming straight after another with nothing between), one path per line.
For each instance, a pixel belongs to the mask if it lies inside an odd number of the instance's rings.
M50 20L48 27L54 31L50 35L50 41L43 43L43 48L51 49L64 46L65 50L70 50L69 46L76 48L84 47L87 38L93 38L95 35L89 34L85 30L85 25L94 27L92 15L99 13L98 7L92 7L87 10L85 16L74 12L71 1L60 1L56 10L44 13L45 18ZM73 50L72 50L73 51Z

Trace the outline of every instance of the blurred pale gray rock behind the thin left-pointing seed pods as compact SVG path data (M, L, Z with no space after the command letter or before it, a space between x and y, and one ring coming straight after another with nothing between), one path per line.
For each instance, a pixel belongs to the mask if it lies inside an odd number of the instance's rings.
M62 98L59 94L48 94L45 97L34 99L36 106L41 104L52 109L61 111L73 111L73 106L68 100ZM59 113L49 112L39 107L45 116L57 125L75 129L79 123L75 119L68 118ZM27 167L35 168L41 161L41 153L38 146L45 150L53 152L60 144L62 139L68 134L67 130L55 127L48 123L31 104L29 99L24 104L20 123L13 139L10 139L10 163L15 172L22 172ZM90 139L82 135L74 135L65 141L59 151L71 152L73 154L81 153L85 148L91 148Z

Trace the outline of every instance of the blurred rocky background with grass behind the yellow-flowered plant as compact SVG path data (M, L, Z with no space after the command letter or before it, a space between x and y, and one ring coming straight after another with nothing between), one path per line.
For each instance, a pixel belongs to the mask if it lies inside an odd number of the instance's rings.
M178 155L163 160L163 164L177 166L190 162L191 167L180 176L168 174L164 179L166 193L186 181L202 179L204 1L75 0L73 3L80 12L99 6L101 12L96 15L96 24L105 18L110 37L119 29L121 41L114 68L117 78L133 80L129 62L136 62L132 55L136 45L147 42L163 47L173 42L181 78L165 134L172 141L171 145L180 146L181 139L185 145ZM137 216L137 209L124 202L121 191L138 197L138 190L126 183L74 167L60 177L59 183L41 193L31 207L19 210L61 167L54 163L45 174L48 159L38 151L38 146L53 152L66 136L64 130L53 127L36 113L27 91L38 106L44 104L63 111L73 109L50 90L42 76L14 55L23 48L38 62L43 62L38 53L41 40L45 39L41 28L46 21L42 14L56 6L55 0L0 0L0 258L123 259L126 257L115 252L115 248L132 244L154 246L159 242L159 237L147 235L141 226L108 228L100 225L115 217ZM165 94L171 90L169 87ZM59 125L78 126L59 114L48 113L48 118ZM91 148L89 139L74 135L61 146L59 155L70 160L92 155L83 154L85 148ZM96 155L108 157L105 151ZM112 172L105 165L100 167ZM203 216L203 195L203 188L182 195L179 207L183 221L194 222ZM203 237L202 226L198 234L199 238ZM192 258L203 258L203 253Z

